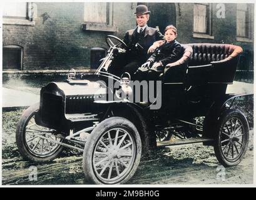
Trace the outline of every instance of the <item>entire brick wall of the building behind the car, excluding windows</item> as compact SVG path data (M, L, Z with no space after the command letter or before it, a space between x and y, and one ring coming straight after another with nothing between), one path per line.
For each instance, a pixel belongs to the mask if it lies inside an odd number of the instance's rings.
M36 2L36 5L38 13L37 18L34 19L35 26L3 26L3 46L16 44L24 48L24 70L88 68L91 48L107 47L106 35L114 34L122 38L126 30L136 25L133 14L136 2L113 3L113 24L118 27L117 32L83 31L81 29L84 17L83 2ZM152 5L150 7L152 10L159 7ZM238 42L236 39L237 4L225 4L224 19L217 18L216 6L217 4L212 4L214 39L203 39L193 37L193 4L175 3L176 13L172 12L172 19L176 18L176 23L173 24L176 24L178 29L177 40L182 43L224 42L240 45L244 51L250 53L251 59L248 63L249 68L253 69L253 42ZM170 7L165 7L160 5L161 12L168 13ZM155 11L155 21L158 12ZM159 23L161 22L163 20L159 20Z

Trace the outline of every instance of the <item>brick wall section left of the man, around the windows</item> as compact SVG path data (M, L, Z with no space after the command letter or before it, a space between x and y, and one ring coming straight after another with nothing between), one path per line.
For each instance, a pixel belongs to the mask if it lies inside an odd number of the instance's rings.
M91 48L107 47L107 34L123 37L126 29L135 26L133 4L115 3L113 22L119 31L103 32L81 29L84 17L84 4L81 2L36 2L36 25L4 25L3 46L15 44L23 47L24 70L87 68L90 66Z

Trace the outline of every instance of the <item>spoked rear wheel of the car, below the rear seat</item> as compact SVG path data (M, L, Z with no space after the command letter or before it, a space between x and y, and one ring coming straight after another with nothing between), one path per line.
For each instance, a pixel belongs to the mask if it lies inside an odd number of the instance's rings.
M230 109L219 122L214 145L215 156L225 167L236 166L242 161L248 147L247 119L238 109Z

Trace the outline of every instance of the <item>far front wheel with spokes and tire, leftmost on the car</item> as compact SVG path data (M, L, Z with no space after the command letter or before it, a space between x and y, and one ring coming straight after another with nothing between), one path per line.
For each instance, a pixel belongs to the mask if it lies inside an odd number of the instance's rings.
M23 113L16 129L16 143L24 159L44 163L59 156L63 146L56 143L62 140L53 134L53 129L35 123L34 115L38 110L39 104L34 104Z

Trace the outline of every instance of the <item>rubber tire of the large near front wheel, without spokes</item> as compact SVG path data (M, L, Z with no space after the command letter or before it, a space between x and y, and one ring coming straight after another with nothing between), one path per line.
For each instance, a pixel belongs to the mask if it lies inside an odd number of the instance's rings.
M133 163L133 167L131 168L130 172L121 179L118 183L103 183L98 179L95 175L94 169L93 169L93 151L95 149L95 146L98 142L98 139L101 138L101 136L106 133L107 130L111 128L115 128L117 126L124 126L132 136L134 137L135 141L135 151L136 151L136 157ZM141 158L141 138L140 134L138 133L138 130L136 129L135 125L131 123L126 118L120 118L120 117L112 117L105 119L102 121L98 126L96 126L95 129L93 129L90 138L88 138L88 141L86 142L84 146L84 152L83 152L83 170L86 182L91 184L124 184L126 183L135 173L136 169L138 168L138 165L140 164L140 158Z

